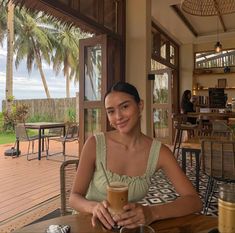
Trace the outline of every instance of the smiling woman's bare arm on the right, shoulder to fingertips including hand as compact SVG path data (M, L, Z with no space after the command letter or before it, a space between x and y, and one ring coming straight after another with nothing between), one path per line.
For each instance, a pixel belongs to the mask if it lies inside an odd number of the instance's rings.
M197 192L179 167L172 152L164 145L160 149L158 169L164 171L180 196L172 202L161 205L142 206L130 203L124 207L126 210L124 214L114 218L118 224L133 228L138 224L150 224L156 220L184 216L202 209L202 202Z

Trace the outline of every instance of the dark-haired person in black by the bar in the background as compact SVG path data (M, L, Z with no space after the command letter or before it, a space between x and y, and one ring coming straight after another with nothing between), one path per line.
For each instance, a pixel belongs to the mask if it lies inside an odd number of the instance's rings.
M194 104L191 102L192 93L190 90L185 90L181 99L181 112L187 114L188 112L195 112ZM187 122L196 124L196 118L187 117Z

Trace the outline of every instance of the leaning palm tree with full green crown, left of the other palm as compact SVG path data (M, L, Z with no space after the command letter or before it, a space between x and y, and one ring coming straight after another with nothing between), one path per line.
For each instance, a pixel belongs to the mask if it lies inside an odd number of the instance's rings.
M45 16L39 13L26 12L24 8L16 10L15 40L16 68L26 57L27 69L30 73L35 63L39 69L47 98L50 98L46 78L42 69L42 60L51 62L53 52L53 38L50 35L51 27L45 24Z

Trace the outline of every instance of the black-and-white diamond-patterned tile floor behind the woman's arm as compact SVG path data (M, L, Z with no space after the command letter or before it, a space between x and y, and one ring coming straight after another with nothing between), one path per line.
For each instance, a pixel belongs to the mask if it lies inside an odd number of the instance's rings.
M181 164L181 162L179 161ZM190 162L187 161L187 176L194 184L195 182L195 161L193 161L192 166L190 166ZM207 185L207 176L200 171L200 192L199 196L204 201L204 196L206 192ZM213 195L210 208L208 209L207 215L216 216L218 215L218 206L217 206L217 194ZM172 187L171 183L166 179L165 175L162 171L156 173L154 178L152 179L152 186L150 187L149 193L147 196L140 202L144 205L153 205L164 203L167 201L173 201L178 194L175 192L174 187Z

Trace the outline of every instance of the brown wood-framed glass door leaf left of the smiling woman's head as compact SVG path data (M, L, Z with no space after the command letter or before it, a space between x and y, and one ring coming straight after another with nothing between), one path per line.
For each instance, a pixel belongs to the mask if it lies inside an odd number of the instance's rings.
M107 86L105 35L80 40L79 148L85 140L106 131L103 97Z

